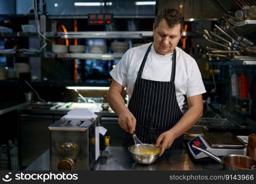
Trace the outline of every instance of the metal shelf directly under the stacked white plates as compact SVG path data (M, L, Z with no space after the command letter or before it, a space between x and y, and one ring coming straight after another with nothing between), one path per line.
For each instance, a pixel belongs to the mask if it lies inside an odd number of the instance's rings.
M45 58L78 58L114 60L122 58L123 53L46 53Z

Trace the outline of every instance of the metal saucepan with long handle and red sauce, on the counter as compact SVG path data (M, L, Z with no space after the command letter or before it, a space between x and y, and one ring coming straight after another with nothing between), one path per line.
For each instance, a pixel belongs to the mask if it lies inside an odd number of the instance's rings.
M256 160L250 158L249 156L244 155L227 155L219 158L212 154L211 152L204 150L201 147L196 147L196 145L192 146L197 150L202 151L206 155L210 156L212 159L217 161L218 163L222 164L223 170L228 171L239 171L239 170L256 170Z

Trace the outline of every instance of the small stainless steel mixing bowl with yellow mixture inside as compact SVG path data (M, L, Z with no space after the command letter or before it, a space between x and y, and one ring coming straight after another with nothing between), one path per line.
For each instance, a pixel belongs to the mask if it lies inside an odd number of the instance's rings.
M131 153L131 156L133 157L134 161L140 164L152 164L155 162L158 158L160 148L155 147L152 144L136 144L136 145L131 145L128 150ZM154 152L155 154L151 155L142 155L139 154L141 151L149 151L149 152Z

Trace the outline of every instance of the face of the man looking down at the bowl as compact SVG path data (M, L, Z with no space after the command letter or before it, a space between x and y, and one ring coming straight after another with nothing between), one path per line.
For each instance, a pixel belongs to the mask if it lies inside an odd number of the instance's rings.
M153 47L160 55L173 52L180 39L180 24L170 28L165 19L153 26Z

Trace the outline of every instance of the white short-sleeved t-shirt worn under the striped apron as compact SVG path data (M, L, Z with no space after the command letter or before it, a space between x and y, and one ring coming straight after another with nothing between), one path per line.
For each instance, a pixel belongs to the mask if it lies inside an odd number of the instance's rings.
M117 66L110 72L111 77L117 83L126 87L126 93L129 99L133 94L139 67L150 44L130 48L123 55L122 59L120 59ZM158 55L152 45L141 78L163 82L170 81L173 64L172 58L173 53ZM179 47L176 47L176 74L174 84L180 109L184 105L184 95L190 97L206 93L195 59Z

